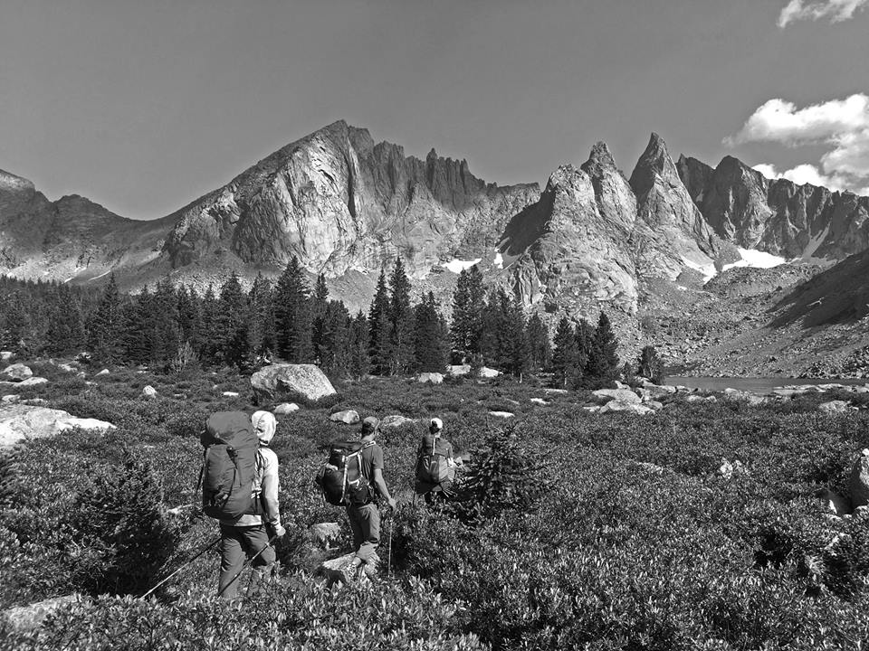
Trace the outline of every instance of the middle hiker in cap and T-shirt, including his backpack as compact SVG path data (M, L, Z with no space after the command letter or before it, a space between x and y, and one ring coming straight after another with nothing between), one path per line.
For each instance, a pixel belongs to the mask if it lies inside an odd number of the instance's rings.
M396 508L383 478L383 448L375 438L380 421L369 416L362 421L358 441L334 441L329 446L329 460L320 468L317 483L329 504L347 509L353 532L355 552L350 571L360 566L368 574L377 570L377 547L380 544L380 511L377 496Z

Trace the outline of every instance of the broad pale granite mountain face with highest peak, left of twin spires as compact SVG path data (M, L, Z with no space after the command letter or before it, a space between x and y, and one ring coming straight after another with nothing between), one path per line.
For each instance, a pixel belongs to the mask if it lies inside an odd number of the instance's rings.
M465 161L425 161L336 122L283 147L171 215L165 255L175 269L229 254L244 265L339 276L402 255L415 275L442 259L477 258L537 184L486 184Z

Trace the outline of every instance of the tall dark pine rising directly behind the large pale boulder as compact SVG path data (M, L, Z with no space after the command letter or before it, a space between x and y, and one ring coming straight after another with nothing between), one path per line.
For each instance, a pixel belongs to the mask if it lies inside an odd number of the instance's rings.
M295 256L278 278L274 290L274 316L277 354L290 363L310 362L313 351L309 289Z

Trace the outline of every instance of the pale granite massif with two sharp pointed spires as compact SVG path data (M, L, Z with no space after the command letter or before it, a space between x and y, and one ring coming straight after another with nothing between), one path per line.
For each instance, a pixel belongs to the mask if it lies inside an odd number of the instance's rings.
M628 182L603 143L562 165L537 203L510 222L501 247L527 304L568 312L613 306L635 314L645 278L713 274L735 259L703 221L664 141L652 136Z

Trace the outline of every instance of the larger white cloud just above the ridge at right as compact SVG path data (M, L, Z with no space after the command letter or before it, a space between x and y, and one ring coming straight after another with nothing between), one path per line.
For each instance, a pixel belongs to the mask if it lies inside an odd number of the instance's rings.
M869 183L869 96L857 93L804 109L784 99L769 99L751 114L739 133L724 138L727 146L750 142L826 146L820 167L797 165L780 174L768 164L755 169L769 178L865 193Z

